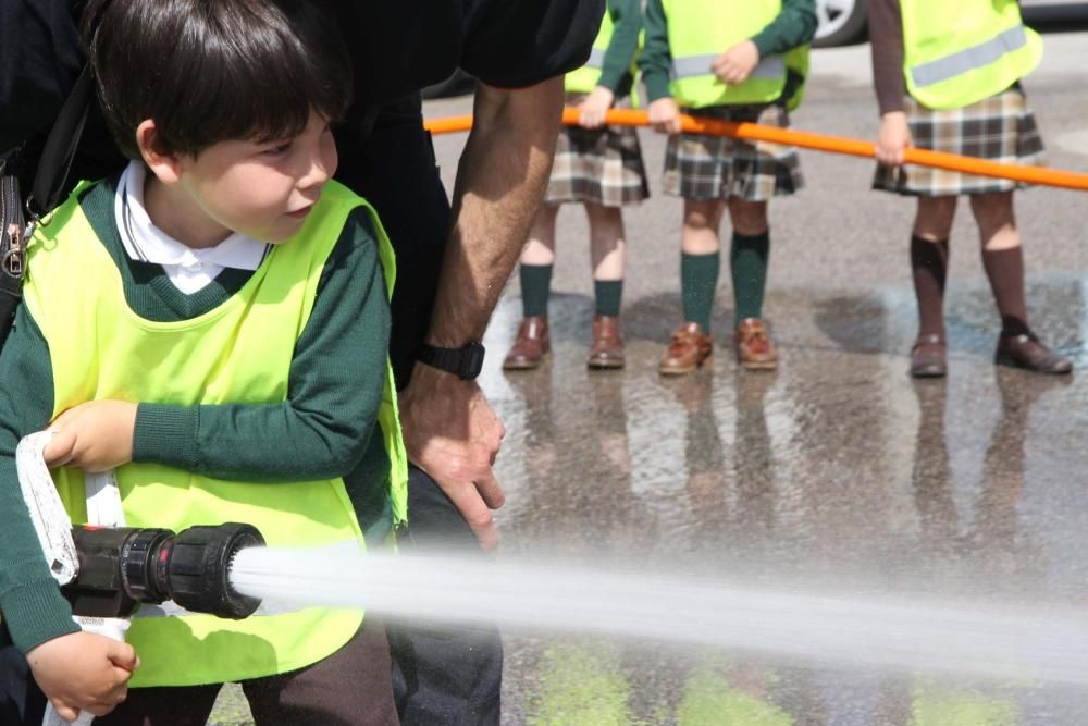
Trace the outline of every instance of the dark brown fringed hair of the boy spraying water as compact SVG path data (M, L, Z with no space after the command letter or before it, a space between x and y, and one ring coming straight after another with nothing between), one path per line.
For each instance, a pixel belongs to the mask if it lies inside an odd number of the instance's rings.
M198 155L233 139L273 141L310 109L343 118L351 59L313 0L90 0L84 42L121 151L154 120L157 151Z

